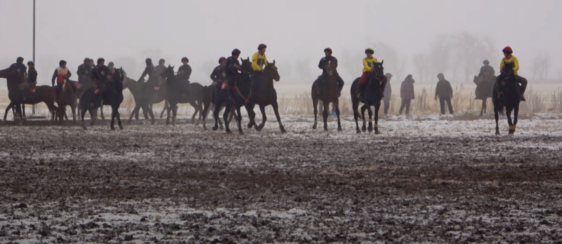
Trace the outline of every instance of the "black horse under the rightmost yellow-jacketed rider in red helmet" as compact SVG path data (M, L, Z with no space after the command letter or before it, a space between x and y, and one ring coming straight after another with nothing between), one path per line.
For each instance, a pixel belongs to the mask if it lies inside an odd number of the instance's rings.
M517 116L519 113L519 103L521 102L521 88L515 79L514 67L513 65L505 65L502 70L503 74L500 74L502 79L500 86L502 93L504 93L502 99L498 99L497 95L500 92L498 86L494 87L494 93L492 94L492 102L494 104L494 116L496 119L496 135L499 135L498 127L498 114L504 114L504 109L507 111L507 123L509 123L509 134L514 135L515 126L517 125ZM511 111L514 111L514 121L511 122Z

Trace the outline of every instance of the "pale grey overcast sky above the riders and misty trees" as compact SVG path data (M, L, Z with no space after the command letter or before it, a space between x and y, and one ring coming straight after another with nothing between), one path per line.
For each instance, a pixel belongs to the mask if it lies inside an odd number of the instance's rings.
M18 56L32 59L32 2L0 0L0 67ZM218 57L233 48L242 50L242 57L251 56L259 43L266 43L266 55L277 61L282 81L312 83L327 47L340 66L355 62L360 69L360 59L344 57L351 52L360 58L377 41L411 60L428 51L437 36L469 32L495 39L496 59L504 46L514 48L525 76L536 53L561 54L561 7L559 0L38 0L36 67L40 82L50 83L50 77L43 79L61 59L75 72L84 57L105 57L106 65L114 61L138 79L145 57L155 64L163 57L177 68L186 56L192 81L207 84ZM310 77L296 78L297 62L309 67ZM492 65L498 69L499 64ZM561 67L553 58L549 76L556 77ZM405 72L416 74L411 61ZM346 80L359 75L342 73Z

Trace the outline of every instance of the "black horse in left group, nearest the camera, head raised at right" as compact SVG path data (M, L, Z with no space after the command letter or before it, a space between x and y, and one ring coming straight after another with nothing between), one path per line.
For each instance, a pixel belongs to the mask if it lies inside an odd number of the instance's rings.
M84 95L80 98L78 106L80 107L80 114L82 119L82 128L86 130L84 125L84 115L86 111L90 113L91 125L93 126L93 121L95 120L95 115L93 114L96 109L105 105L111 105L111 129L115 130L114 122L115 117L117 117L117 123L119 124L119 129L123 130L123 125L121 123L121 118L119 117L119 106L123 102L123 79L126 74L122 68L115 69L115 73L112 76L112 81L107 82L104 86L98 85L98 89L89 89L84 91ZM100 84L101 82L98 82Z

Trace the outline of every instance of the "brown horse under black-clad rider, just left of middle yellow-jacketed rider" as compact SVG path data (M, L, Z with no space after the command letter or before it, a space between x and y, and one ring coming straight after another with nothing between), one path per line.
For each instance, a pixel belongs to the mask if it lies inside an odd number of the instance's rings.
M313 83L312 85L312 89L311 89L311 97L312 97L312 103L314 106L314 125L312 126L313 129L316 129L317 127L317 114L318 114L318 100L321 100L324 104L324 111L322 111L322 117L324 118L324 130L327 131L328 130L328 124L327 124L327 120L328 120L328 105L330 104L330 102L332 103L332 106L336 107L336 116L338 117L338 131L341 131L341 121L339 119L339 89L338 89L338 83L336 80L336 74L334 74L334 65L331 64L331 62L327 62L327 64L324 67L327 76L325 78L324 81L319 81L322 82L322 93L320 95L318 95L318 84L317 83Z

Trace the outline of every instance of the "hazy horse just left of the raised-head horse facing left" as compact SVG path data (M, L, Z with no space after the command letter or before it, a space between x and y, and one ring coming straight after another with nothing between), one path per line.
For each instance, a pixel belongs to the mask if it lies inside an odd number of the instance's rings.
M131 123L133 120L133 115L138 119L138 111L142 108L143 112L148 113L152 119L152 125L155 123L154 113L150 109L149 104L158 103L164 101L166 98L166 86L159 86L158 90L154 88L146 88L146 83L138 83L137 81L125 77L123 81L123 89L129 88L131 94L133 95L133 100L135 100L135 108L131 112L129 121Z

